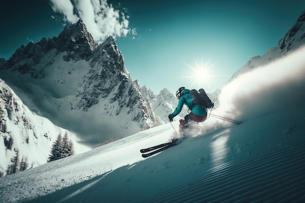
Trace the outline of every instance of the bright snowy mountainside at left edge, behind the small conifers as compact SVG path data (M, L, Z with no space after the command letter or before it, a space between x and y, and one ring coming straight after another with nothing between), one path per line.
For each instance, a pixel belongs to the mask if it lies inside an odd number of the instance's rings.
M0 79L0 174L6 174L17 154L18 162L26 160L28 166L24 169L47 163L57 136L63 137L66 133L75 146L76 154L91 149L78 143L75 133L59 128L30 111Z

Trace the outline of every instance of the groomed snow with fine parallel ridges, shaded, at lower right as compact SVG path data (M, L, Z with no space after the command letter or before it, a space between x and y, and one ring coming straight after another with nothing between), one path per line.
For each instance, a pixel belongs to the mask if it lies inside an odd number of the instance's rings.
M207 162L201 165L202 170L196 168L193 173L188 170L185 176L173 176L166 183L168 190L163 188L150 191L154 195L140 198L136 202L304 203L304 147L305 136L293 136L284 145L279 142L273 147L233 160Z

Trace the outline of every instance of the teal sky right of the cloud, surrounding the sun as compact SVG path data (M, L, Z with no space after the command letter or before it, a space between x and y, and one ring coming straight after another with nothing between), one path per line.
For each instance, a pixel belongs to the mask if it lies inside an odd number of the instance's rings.
M305 1L173 2L130 5L131 26L139 36L117 40L133 79L141 78L140 85L155 93L164 87L171 92L181 86L203 87L207 92L223 87L251 57L277 46L305 9ZM218 76L208 84L193 84L193 78L183 76L195 74L186 65L196 67L195 61L216 62L210 72Z

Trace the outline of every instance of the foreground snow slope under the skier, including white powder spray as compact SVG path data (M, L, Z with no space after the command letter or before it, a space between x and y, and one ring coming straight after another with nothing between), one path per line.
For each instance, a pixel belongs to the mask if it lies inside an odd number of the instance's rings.
M178 146L171 124L0 179L0 202L305 202L305 49L241 75ZM178 122L173 122L178 129Z

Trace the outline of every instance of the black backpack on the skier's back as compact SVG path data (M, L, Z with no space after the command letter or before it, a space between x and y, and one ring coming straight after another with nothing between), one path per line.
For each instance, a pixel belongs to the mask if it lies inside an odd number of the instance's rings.
M191 94L191 98L194 100L193 103L191 104L190 110L192 110L196 105L201 105L208 109L214 106L209 96L204 91L204 89L200 89L199 92L193 89L190 91L190 94Z

